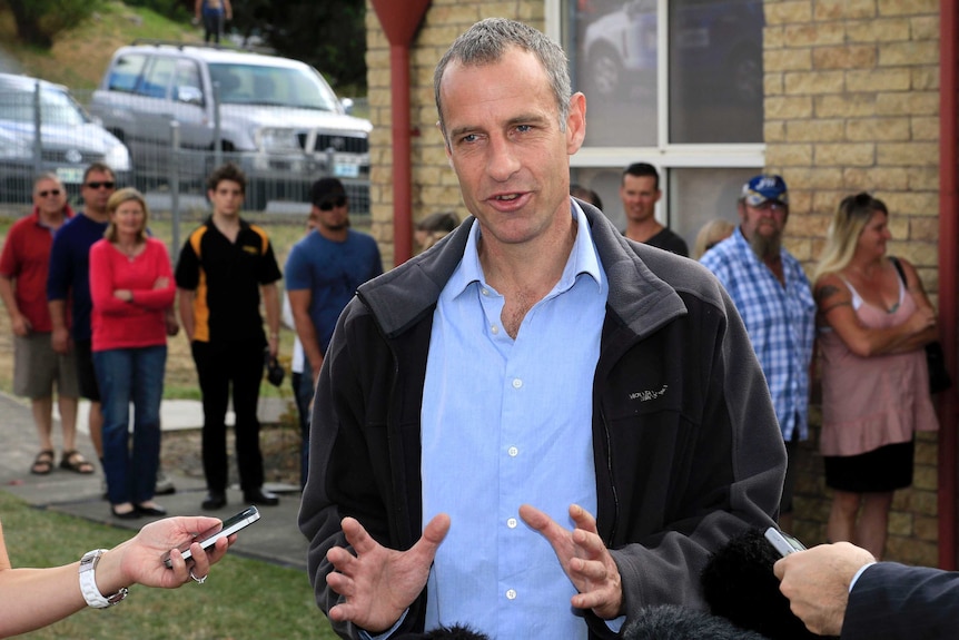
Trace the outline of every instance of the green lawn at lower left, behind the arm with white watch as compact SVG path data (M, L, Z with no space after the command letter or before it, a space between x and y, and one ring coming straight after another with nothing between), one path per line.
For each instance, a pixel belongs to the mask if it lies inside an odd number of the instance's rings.
M13 567L52 567L126 540L123 529L39 510L0 491L0 515ZM136 640L332 640L306 574L236 555L216 564L202 585L165 590L132 587L107 610L87 609L30 638Z

